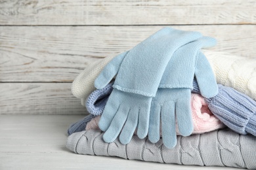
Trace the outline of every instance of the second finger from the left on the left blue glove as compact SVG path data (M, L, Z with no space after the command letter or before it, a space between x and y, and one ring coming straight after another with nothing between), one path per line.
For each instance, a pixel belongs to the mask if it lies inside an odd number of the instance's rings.
M106 143L112 143L116 140L123 125L125 124L125 121L127 120L129 110L129 107L126 107L125 105L119 106L119 109L117 110L116 115L110 124L110 127L108 127L103 135L103 139Z

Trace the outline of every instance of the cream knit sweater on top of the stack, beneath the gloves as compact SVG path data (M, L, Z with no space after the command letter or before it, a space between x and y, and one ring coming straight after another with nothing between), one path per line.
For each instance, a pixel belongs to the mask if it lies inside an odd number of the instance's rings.
M256 58L233 56L224 52L202 51L213 68L218 84L232 87L256 100ZM81 99L82 105L85 105L85 99L95 90L95 78L115 56L108 56L92 63L75 78L72 83L72 93Z

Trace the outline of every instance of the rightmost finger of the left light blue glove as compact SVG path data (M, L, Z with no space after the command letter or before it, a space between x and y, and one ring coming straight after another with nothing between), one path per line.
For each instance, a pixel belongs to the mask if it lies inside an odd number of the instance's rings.
M150 105L141 107L139 110L139 122L137 135L140 139L143 139L148 135L148 125L150 119Z

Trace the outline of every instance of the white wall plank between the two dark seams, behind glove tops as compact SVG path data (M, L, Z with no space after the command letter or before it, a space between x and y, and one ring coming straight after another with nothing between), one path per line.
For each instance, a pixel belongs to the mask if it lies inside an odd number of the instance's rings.
M72 82L90 63L163 26L0 27L0 82ZM210 50L256 56L256 25L176 25L218 40Z

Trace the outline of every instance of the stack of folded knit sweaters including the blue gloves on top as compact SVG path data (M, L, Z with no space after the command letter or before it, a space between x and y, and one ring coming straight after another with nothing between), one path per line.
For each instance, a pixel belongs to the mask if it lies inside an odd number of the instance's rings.
M201 50L215 39L165 27L75 78L88 112L77 154L256 169L256 59Z

